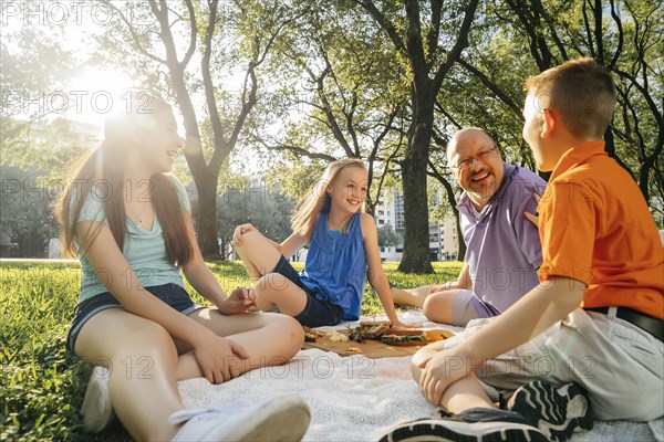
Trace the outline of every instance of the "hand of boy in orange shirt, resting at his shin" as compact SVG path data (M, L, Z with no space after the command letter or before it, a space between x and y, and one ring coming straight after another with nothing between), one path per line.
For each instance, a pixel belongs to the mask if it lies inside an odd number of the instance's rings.
M443 394L449 386L459 379L470 376L470 360L458 356L454 348L432 352L421 364L419 387L424 397L434 406L439 406Z

